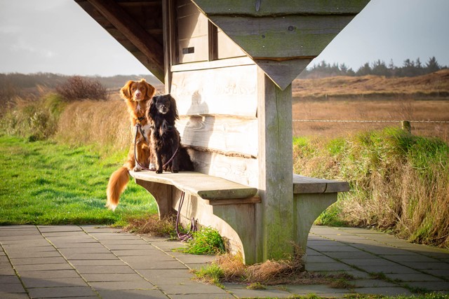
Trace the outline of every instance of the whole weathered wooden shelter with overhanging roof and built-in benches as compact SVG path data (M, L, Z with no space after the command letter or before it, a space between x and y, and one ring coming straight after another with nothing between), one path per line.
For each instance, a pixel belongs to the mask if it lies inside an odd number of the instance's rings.
M75 1L177 101L196 173L133 174L159 214L183 190L247 263L305 250L347 183L293 174L291 82L369 0Z

